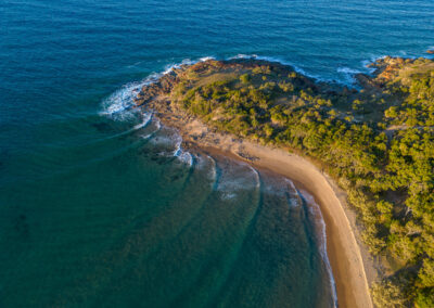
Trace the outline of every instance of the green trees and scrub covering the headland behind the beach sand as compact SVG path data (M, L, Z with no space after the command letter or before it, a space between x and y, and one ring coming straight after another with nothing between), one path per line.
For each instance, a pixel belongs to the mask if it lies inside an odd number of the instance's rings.
M166 92L209 127L317 162L383 260L375 305L434 307L434 62L372 66L355 90L278 63L207 61L179 69Z

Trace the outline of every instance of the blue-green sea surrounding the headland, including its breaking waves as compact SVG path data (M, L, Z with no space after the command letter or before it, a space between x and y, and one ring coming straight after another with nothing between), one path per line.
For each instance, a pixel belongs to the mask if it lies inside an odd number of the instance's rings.
M332 307L308 196L124 107L182 61L349 85L433 33L432 1L1 1L0 307Z

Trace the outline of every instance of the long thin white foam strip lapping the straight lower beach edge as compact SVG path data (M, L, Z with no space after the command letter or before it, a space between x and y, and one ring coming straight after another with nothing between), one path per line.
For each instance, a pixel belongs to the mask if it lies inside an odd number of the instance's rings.
M301 190L301 195L303 196L303 198L306 201L306 203L309 205L309 211L310 214L314 216L315 218L315 223L317 226L320 227L320 235L321 235L321 245L320 245L320 255L322 257L323 262L326 264L326 268L327 271L329 273L329 279L330 279L330 284L332 287L332 292L333 292L333 303L334 303L334 307L337 307L337 294L336 294L336 284L334 282L334 278L333 278L333 272L332 272L332 268L330 266L330 260L329 260L329 256L327 255L327 234L326 234L326 222L324 219L322 217L322 213L321 209L319 207L319 205L315 202L315 198L312 195L310 195L308 192Z

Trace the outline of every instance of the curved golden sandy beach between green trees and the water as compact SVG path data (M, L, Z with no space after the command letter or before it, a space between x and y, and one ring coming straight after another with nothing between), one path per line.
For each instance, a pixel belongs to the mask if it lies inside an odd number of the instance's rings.
M216 152L247 162L291 179L310 193L320 205L326 221L327 251L336 284L339 307L373 307L369 283L375 275L366 248L357 241L354 213L345 204L345 193L312 163L283 149L272 149L208 129L182 113L157 113L163 124L179 129L184 147Z

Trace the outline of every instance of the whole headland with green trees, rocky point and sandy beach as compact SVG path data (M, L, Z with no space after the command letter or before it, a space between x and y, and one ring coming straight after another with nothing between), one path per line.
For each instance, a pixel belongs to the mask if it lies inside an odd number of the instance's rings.
M255 59L181 65L136 99L199 146L320 204L340 307L434 306L434 61L384 57L360 90Z

